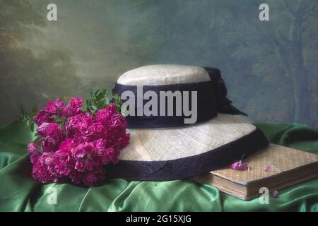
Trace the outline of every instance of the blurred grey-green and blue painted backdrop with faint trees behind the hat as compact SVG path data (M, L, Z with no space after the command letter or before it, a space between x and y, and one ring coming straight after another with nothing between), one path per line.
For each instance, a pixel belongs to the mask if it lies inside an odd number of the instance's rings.
M57 21L47 4L57 4ZM270 21L259 20L269 4ZM145 64L221 69L253 120L318 126L318 1L0 0L0 121Z

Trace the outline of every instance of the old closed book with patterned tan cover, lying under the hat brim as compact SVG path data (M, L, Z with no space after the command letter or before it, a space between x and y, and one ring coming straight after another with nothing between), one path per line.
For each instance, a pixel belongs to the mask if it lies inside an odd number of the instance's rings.
M318 177L317 155L280 145L271 144L271 147L273 149L265 148L243 161L249 164L249 170L239 171L228 166L192 179L250 200L261 196L261 187L275 191ZM271 172L266 172L266 167L270 167Z

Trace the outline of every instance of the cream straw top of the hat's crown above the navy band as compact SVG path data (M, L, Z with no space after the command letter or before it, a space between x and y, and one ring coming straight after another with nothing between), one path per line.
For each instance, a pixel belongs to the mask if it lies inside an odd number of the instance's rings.
M203 68L196 66L158 64L127 71L119 77L122 85L172 85L211 81Z

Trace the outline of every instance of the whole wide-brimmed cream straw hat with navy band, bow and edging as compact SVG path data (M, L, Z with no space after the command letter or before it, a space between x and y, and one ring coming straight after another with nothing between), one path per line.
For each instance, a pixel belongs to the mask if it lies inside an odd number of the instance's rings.
M194 103L190 93L196 91L196 121L194 124L184 123L184 119L189 119L189 114L184 112L160 116L162 105L156 109L158 116L127 116L131 140L121 151L119 162L108 167L109 177L152 181L184 179L230 165L269 145L264 134L246 119L246 114L228 100L218 69L143 66L119 77L113 93L125 96L125 91L135 95L135 102L148 91L157 94L158 99L160 92L179 91L188 93L182 98L189 97L189 105ZM137 112L148 100L151 98L144 98L141 105L136 104L133 108ZM165 103L167 101L166 98ZM176 101L177 98L173 99L174 113ZM167 109L163 112L167 113Z

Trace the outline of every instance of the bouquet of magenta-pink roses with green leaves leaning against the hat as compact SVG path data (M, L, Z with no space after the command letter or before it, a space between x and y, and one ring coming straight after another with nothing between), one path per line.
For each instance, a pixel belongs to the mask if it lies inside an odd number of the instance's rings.
M104 166L116 163L129 143L119 105L119 97L95 91L85 103L80 97L67 105L49 101L33 120L24 113L29 125L37 125L35 140L28 144L33 178L42 183L71 179L86 186L105 179Z

